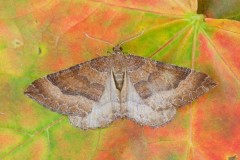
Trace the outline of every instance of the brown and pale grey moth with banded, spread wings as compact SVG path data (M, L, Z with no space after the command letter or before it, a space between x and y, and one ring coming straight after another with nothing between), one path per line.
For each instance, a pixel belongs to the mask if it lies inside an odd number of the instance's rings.
M82 129L106 127L118 118L158 127L215 85L204 73L127 55L117 45L110 56L34 81L25 94Z

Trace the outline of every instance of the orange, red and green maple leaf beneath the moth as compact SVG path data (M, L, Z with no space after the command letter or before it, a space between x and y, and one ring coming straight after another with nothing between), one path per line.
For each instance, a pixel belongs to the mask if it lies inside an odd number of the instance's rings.
M240 23L214 19L239 20L239 11L230 8L239 2L224 2L224 12L216 1L202 2L0 2L0 159L239 157ZM119 120L82 131L23 95L33 80L111 50L84 33L117 44L142 30L123 45L125 52L194 68L218 83L178 109L168 125L152 129Z

